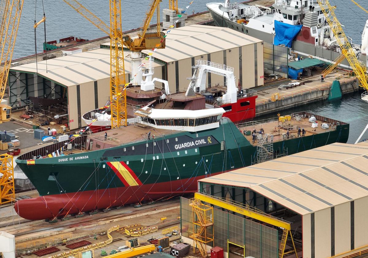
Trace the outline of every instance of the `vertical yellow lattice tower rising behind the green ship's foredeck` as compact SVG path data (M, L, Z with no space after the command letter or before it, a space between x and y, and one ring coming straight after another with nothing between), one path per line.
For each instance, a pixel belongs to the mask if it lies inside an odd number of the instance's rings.
M110 0L110 108L112 129L127 125L120 0Z

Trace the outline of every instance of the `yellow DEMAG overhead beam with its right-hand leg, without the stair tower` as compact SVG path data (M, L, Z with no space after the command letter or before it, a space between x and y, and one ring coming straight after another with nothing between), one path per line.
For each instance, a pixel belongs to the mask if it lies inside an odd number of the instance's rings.
M295 248L295 244L294 244L294 240L293 240L293 234L291 234L291 226L289 222L286 222L284 220L280 220L276 217L270 216L267 213L263 213L259 210L256 210L255 208L252 208L250 206L243 206L241 205L241 203L237 204L236 202L223 198L223 199L219 199L210 195L205 195L203 193L199 193L196 192L194 193L194 199L205 202L205 203L210 203L212 205L216 205L219 206L221 208L224 208L226 210L230 210L232 212L236 212L239 213L241 215L244 215L246 217L250 217L252 219L279 227L280 229L283 230L283 234L281 237L281 242L280 242L280 246L279 246L279 258L283 258L285 254L290 254L292 252L295 253L296 258L298 258L297 255L297 251ZM286 241L287 241L287 237L290 234L290 238L291 238L291 242L293 244L293 250L285 252L285 247L286 247Z

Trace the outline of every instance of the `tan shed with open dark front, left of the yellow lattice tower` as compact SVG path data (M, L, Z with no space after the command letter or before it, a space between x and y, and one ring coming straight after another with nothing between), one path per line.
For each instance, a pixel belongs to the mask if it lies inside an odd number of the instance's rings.
M124 60L128 80L130 60ZM28 97L63 99L67 102L64 114L68 114L68 127L85 126L81 115L103 107L110 96L110 50L95 49L15 66L9 74L9 93L13 108L27 106Z

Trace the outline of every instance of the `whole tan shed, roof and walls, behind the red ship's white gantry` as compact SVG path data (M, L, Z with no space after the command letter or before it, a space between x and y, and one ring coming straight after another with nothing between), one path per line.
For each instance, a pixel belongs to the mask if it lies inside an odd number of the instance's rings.
M199 59L233 67L243 88L263 85L263 41L229 28L206 25L175 28L166 35L166 48L153 53L155 61L164 64L156 67L154 77L169 81L171 93L187 90L187 78ZM206 83L223 85L225 78L208 73Z

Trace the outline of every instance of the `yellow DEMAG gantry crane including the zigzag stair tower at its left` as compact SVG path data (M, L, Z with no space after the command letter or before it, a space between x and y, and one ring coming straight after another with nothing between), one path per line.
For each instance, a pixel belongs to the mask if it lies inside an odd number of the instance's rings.
M197 247L203 257L207 256L206 246L213 241L213 231L209 232L208 234L208 230L206 230L206 228L209 226L213 227L213 208L209 205L203 204L202 202L209 203L210 205L214 206L219 206L223 209L236 212L246 217L250 217L263 223L278 227L283 231L281 242L279 244L278 258L283 258L285 254L291 253L295 253L296 258L298 258L293 240L293 234L291 234L291 225L289 222L270 216L267 213L263 213L260 210L256 210L255 208L252 208L250 206L244 206L241 203L236 203L230 199L220 199L218 197L196 192L194 193L194 199L191 199L190 203L190 206L192 206L193 209L193 214L197 215L197 220L193 215L193 235L191 237L197 244ZM195 230L196 225L199 226L199 229L197 229L197 231ZM204 233L206 233L207 235L205 235ZM212 233L212 235L210 233ZM293 248L291 251L285 252L286 242L289 234ZM243 246L243 248L245 248L245 246Z

